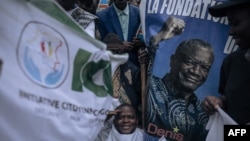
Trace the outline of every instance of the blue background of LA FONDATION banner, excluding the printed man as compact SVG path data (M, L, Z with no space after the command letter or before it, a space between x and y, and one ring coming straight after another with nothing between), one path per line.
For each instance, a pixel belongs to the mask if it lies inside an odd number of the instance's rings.
M153 67L154 75L163 77L170 68L170 56L178 44L186 39L199 38L209 42L215 52L215 61L207 81L196 91L203 99L206 95L218 94L220 65L224 57L237 47L228 36L228 20L225 17L212 17L207 8L218 4L215 0L143 0L140 10L144 38L149 44L150 37L156 35L170 17L184 20L185 29L179 36L159 44Z

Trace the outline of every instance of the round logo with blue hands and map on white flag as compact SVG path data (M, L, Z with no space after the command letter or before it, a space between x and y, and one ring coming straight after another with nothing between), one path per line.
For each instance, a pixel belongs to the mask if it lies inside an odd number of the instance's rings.
M17 60L25 75L34 83L59 87L69 72L69 49L65 38L53 27L28 22L17 45Z

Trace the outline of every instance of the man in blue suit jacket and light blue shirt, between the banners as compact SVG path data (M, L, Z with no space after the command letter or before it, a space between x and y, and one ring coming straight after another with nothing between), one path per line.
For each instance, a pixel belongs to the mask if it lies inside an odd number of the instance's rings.
M129 61L139 67L138 46L133 43L140 27L138 7L128 4L127 0L114 0L106 9L97 12L98 29L103 40L107 34L114 33L123 41L123 53L129 53Z

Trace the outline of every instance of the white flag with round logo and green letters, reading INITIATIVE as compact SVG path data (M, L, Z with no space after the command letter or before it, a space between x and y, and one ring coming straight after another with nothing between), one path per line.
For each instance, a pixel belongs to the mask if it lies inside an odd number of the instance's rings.
M0 2L0 140L92 141L117 58L54 0Z

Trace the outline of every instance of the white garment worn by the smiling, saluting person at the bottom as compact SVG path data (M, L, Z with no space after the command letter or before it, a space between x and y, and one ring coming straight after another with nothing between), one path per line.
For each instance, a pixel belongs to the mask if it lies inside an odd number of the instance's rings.
M112 125L112 129L106 141L143 141L143 131L139 128L132 134L120 134Z

